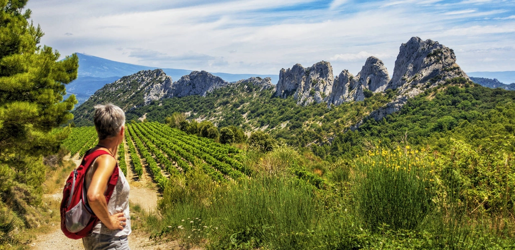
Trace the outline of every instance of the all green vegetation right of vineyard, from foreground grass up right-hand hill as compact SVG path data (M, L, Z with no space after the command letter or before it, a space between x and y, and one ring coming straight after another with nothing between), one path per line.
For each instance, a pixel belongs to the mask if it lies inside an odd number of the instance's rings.
M513 247L514 97L457 78L311 150L250 146L251 178L171 180L142 226L208 249Z

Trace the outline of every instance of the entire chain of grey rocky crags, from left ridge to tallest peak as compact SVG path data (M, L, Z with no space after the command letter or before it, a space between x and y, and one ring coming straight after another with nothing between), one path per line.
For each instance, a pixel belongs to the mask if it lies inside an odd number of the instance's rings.
M73 112L75 123L77 125L90 124L91 111L93 106L98 103L111 102L122 107L128 113L140 114L141 110L161 110L162 108L158 107L165 108L170 102L192 100L187 98L189 96L197 96L192 97L199 99L191 104L202 106L205 109L200 111L197 110L199 107L196 107L186 110L184 109L186 106L184 106L180 107L181 112L202 112L201 115L206 118L210 115L221 115L223 112L220 113L220 109L228 107L238 109L246 103L250 105L255 102L256 105L252 104L253 108L248 112L260 114L262 111L256 107L259 107L260 103L267 102L266 98L269 98L269 95L280 99L288 99L291 96L294 104L304 107L323 103L322 105L329 109L345 103L365 101L366 98L376 96L380 101L376 106L368 107L368 112L370 112L370 118L381 120L384 116L398 111L408 98L424 93L429 88L451 84L454 81L464 85L469 82L467 74L456 64L456 56L452 49L438 42L429 39L424 41L418 37L411 38L407 43L401 45L391 79L384 63L375 57L368 58L362 71L356 76L344 70L338 77L334 77L331 64L325 61L315 63L308 68L295 64L291 69L281 69L279 76L280 80L274 88L268 77L249 78L245 82L252 84L244 83L235 87L222 78L205 71L193 71L177 81L173 81L163 70L140 71L118 79L112 84L107 84L95 92L87 102ZM239 82L242 83L242 81ZM248 95L250 94L248 89L255 89L255 86L269 87L260 87L259 90L253 90L251 95ZM234 93L237 89L242 89L247 94ZM208 95L211 97L205 100L211 100L209 102L214 101L214 103L207 104L201 101ZM228 96L230 98L223 102L216 100L218 97L226 98ZM271 102L280 105L277 100ZM290 105L289 101L286 103ZM151 108L147 108L147 106ZM187 105L187 107L191 107L191 105ZM205 111L208 113L204 113ZM164 112L170 112L170 110ZM243 112L243 110L238 112ZM359 118L365 118L366 113L362 112L361 114ZM154 116L163 118L165 114ZM220 119L215 116L211 116L209 120L218 121ZM150 116L148 117L151 119ZM357 120L351 125L359 126L362 122ZM260 122L260 126L253 124L251 127L252 129L264 126L272 128L277 125L279 125L277 122L268 125Z

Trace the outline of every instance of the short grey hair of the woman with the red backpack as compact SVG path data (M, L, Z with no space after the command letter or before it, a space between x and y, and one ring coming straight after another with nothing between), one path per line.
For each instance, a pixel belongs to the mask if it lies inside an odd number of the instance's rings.
M103 140L108 137L116 136L125 124L124 111L111 103L106 105L96 105L93 118L98 139Z

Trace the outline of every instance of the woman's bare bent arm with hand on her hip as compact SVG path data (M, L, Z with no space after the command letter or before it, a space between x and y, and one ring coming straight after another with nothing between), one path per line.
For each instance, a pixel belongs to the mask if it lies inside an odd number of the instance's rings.
M116 160L110 155L101 155L96 159L95 165L97 168L91 179L87 195L91 210L107 228L111 230L124 229L127 220L124 213L110 215L107 210L106 196L104 196L108 181L116 166Z

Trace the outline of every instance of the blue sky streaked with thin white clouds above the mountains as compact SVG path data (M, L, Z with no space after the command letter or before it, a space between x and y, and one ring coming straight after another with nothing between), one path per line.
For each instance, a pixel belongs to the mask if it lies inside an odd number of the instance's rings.
M31 0L42 43L147 66L278 74L325 60L357 74L369 56L390 75L411 37L454 49L466 72L515 71L515 1Z

